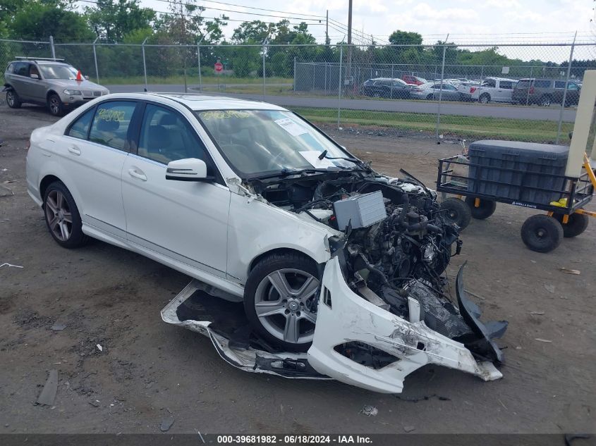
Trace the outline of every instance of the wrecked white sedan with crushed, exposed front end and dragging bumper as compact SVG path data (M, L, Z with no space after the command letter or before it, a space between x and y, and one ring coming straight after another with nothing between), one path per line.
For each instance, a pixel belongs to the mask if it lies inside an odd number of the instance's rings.
M31 135L30 196L54 240L95 237L195 278L164 310L248 371L401 392L439 364L501 377L494 338L442 277L461 249L434 191L375 173L295 113L111 94Z

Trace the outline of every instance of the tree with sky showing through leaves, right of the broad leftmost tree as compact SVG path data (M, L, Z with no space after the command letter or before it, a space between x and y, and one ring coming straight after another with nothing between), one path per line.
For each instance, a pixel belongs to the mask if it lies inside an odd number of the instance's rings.
M97 0L85 13L96 35L112 42L121 42L130 32L146 29L155 20L155 12L141 8L139 0Z

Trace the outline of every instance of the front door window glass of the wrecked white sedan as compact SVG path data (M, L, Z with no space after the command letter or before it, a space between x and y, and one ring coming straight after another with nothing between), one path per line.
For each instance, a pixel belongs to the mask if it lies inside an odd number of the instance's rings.
M139 156L167 164L176 159L202 159L209 166L205 145L186 118L175 111L147 104L139 138Z

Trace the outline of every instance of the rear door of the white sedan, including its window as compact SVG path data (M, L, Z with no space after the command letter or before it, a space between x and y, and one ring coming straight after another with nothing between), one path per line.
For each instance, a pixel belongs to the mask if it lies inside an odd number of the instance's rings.
M104 101L75 120L59 144L80 196L83 222L122 239L126 218L121 174L137 106L136 101Z

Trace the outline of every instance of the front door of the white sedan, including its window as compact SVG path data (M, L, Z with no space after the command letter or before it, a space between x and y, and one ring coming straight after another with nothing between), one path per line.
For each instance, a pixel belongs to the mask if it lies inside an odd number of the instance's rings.
M147 104L138 153L122 171L128 241L225 276L230 190L217 182L166 180L166 165L197 158L214 175L205 145L181 113Z

